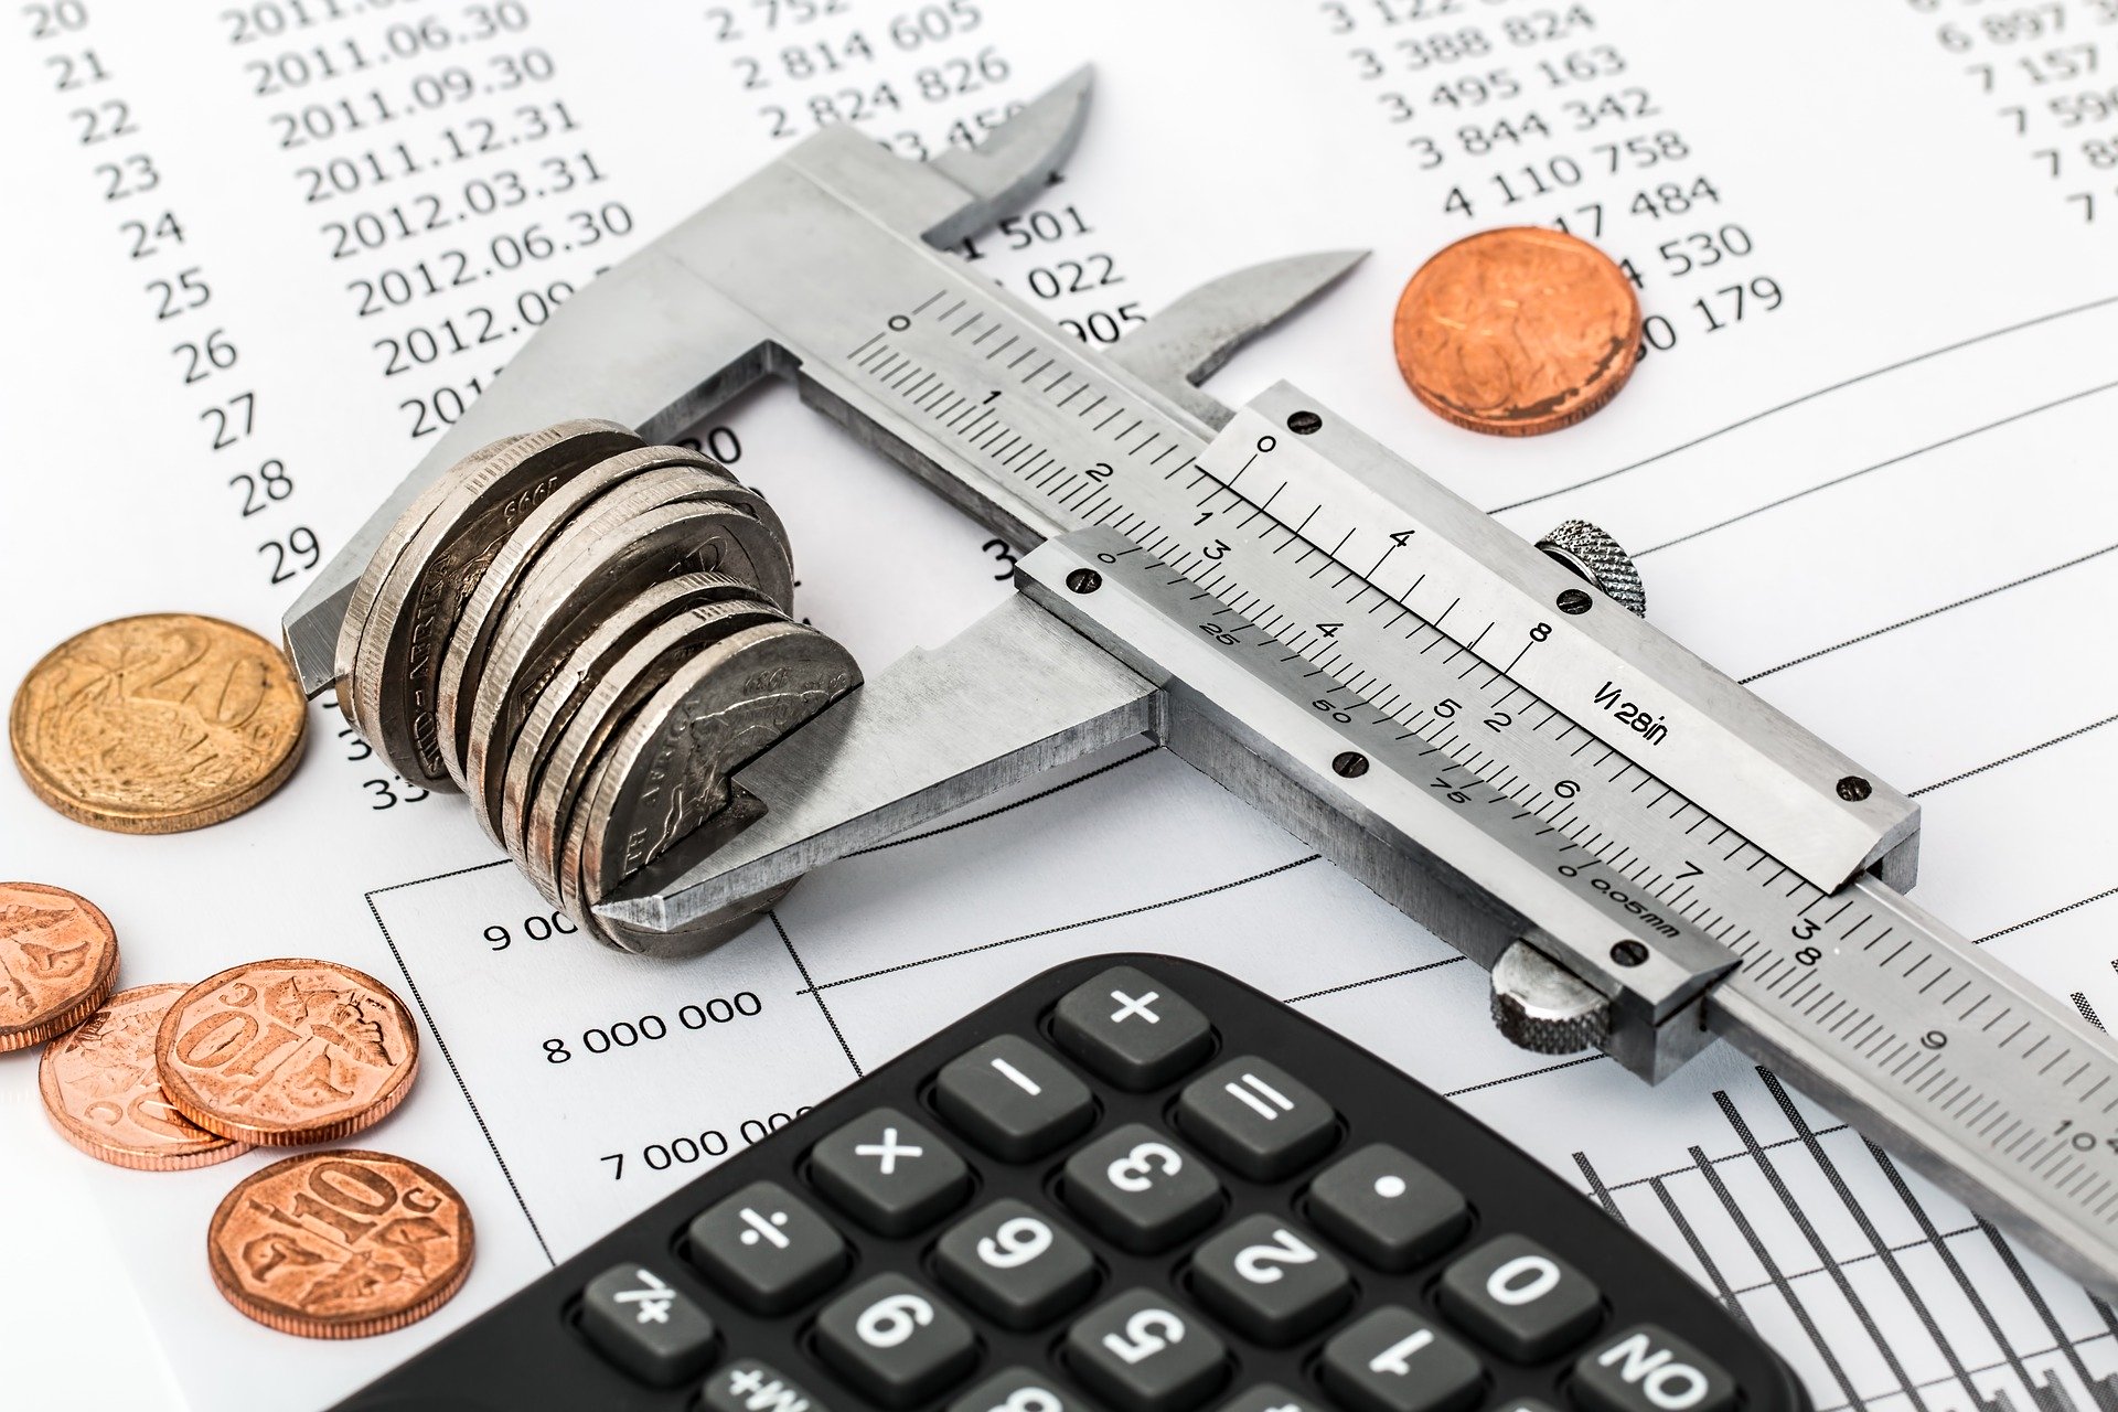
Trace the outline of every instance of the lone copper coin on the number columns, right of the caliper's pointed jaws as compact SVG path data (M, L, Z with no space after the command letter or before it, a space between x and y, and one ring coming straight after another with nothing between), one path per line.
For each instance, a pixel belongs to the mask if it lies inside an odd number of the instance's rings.
M1404 286L1398 370L1440 417L1493 436L1574 426L1639 362L1639 298L1625 271L1563 231L1459 239Z

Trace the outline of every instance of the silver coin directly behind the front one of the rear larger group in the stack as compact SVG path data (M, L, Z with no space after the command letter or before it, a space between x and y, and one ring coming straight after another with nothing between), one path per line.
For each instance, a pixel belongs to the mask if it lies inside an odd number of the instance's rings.
M576 512L610 487L661 466L686 466L701 481L733 485L718 464L682 447L621 451L549 493L536 510L521 519L500 546L500 553L493 555L493 561L485 565L477 591L472 591L455 618L455 631L449 633L447 650L441 658L441 677L434 686L441 762L457 788L470 788L464 773L464 749L470 743L470 701L477 692L487 650L493 644L500 610L515 593L515 586L527 576L538 553L568 527ZM470 690L464 690L466 684Z

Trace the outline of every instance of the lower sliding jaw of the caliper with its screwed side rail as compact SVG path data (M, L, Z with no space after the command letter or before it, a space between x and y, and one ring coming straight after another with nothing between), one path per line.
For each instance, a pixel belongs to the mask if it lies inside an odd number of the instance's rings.
M1565 957L1601 1001L1569 1048L1601 1046L1648 1080L1705 1048L1701 1001L1737 963L1726 946L1684 929L1635 967L1610 963L1610 921L1525 866L1483 815L1438 800L1421 741L1402 758L1349 762L1309 701L1315 686L1260 677L1220 650L1199 631L1218 603L1169 580L1108 529L1044 544L1021 561L1006 603L743 766L733 788L756 823L703 857L678 849L650 864L597 910L680 927L1144 735L1483 967L1519 944Z

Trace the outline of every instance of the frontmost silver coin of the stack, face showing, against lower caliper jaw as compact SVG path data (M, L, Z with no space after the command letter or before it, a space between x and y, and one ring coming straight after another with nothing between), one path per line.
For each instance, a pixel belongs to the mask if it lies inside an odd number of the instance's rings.
M729 802L737 766L858 684L854 656L798 622L743 629L682 663L610 739L574 804L557 868L568 910L589 915L695 834Z

